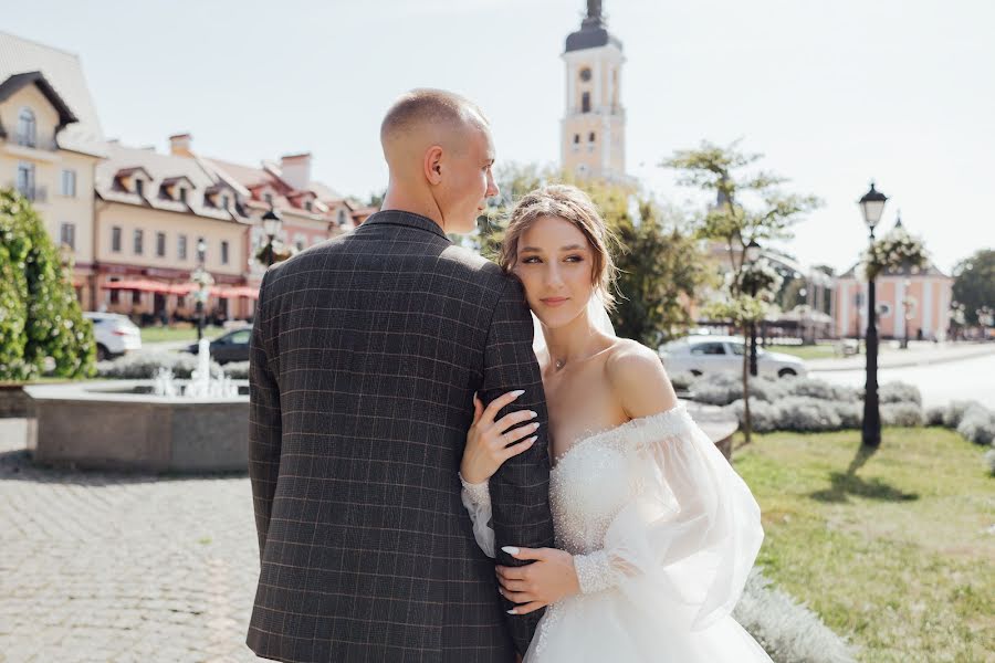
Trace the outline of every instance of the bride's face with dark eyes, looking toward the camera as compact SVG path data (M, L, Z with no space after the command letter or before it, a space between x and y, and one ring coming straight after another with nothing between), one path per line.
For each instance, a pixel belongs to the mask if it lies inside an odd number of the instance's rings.
M562 327L587 308L594 290L593 257L584 233L559 217L540 217L519 236L514 272L544 325Z

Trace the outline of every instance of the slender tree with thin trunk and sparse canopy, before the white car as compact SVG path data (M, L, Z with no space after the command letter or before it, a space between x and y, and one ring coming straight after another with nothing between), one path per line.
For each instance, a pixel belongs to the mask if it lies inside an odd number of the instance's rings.
M708 307L711 316L729 319L746 338L752 325L763 319L767 311L769 293L747 287L751 282L746 264L746 248L756 242L792 236L790 228L802 215L817 208L820 202L814 196L782 192L778 187L786 180L776 175L758 171L743 173L743 169L762 158L739 150L737 143L720 147L703 141L699 149L678 150L664 166L678 170L679 183L696 187L715 196L715 204L705 212L699 235L725 244L730 274L726 278L725 299ZM777 287L779 287L779 283ZM752 438L750 414L750 352L743 352L744 435Z

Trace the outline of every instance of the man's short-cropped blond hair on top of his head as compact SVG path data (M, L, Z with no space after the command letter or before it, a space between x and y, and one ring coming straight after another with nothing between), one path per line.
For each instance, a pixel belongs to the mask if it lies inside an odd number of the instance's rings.
M380 123L380 143L426 127L461 131L469 126L486 126L488 119L470 99L444 90L418 88L400 96Z

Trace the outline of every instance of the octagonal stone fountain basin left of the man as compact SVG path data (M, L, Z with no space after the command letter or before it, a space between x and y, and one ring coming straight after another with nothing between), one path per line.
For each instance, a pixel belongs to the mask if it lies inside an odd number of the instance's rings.
M177 380L184 385L185 380ZM249 383L234 398L154 396L154 380L24 387L28 449L49 465L138 472L245 472Z

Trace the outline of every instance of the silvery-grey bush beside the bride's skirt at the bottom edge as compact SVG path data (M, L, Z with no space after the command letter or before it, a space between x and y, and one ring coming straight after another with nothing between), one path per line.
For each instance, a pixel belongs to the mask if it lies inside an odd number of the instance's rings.
M733 617L776 663L851 663L853 646L757 570L750 572Z

